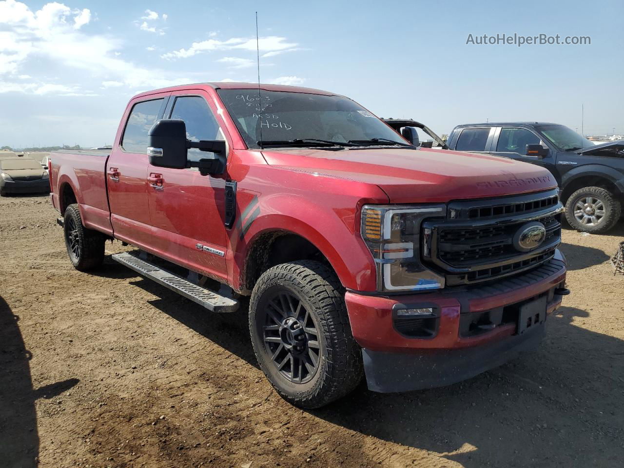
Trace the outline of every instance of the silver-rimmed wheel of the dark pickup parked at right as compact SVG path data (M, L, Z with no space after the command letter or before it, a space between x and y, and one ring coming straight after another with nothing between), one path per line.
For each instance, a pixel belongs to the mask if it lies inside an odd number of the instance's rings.
M571 227L595 234L610 230L620 219L622 207L606 188L583 187L565 203L565 218Z

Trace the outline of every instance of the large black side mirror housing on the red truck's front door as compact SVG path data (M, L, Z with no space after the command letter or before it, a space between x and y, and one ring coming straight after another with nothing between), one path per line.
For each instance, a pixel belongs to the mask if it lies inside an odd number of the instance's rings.
M151 165L175 169L187 167L187 126L184 120L157 120L147 136L147 155Z

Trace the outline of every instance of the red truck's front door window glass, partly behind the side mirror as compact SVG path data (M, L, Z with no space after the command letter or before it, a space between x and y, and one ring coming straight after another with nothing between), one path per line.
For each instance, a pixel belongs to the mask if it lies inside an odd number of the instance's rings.
M182 96L175 99L172 119L184 120L187 127L187 139L193 142L200 140L224 140L217 119L203 97ZM198 161L209 154L195 148L188 149L188 159Z

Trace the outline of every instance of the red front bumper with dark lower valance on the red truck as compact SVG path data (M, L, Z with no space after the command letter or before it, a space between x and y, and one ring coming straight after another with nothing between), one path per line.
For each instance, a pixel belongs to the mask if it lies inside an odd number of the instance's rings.
M517 334L517 323L492 326L478 334L466 333L466 319L509 315L519 305L545 298L546 312L561 304L557 287L565 284L565 260L555 257L522 275L489 285L404 296L365 296L349 291L345 300L353 336L363 348L369 389L399 392L433 388L462 381L513 359L537 346L545 333L542 323ZM406 336L397 329L393 309L433 308L436 330L427 338ZM504 312L506 311L506 312Z

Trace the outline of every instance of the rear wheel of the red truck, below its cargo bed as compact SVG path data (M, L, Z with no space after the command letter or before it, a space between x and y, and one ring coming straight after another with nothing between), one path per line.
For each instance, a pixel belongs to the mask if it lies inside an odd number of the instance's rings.
M69 255L69 260L76 270L89 271L102 265L105 238L101 233L87 229L82 225L80 210L76 203L69 205L65 210L63 233L67 255ZM77 253L76 244L72 244L72 238L74 242L77 242ZM72 246L74 246L74 250L72 250Z

